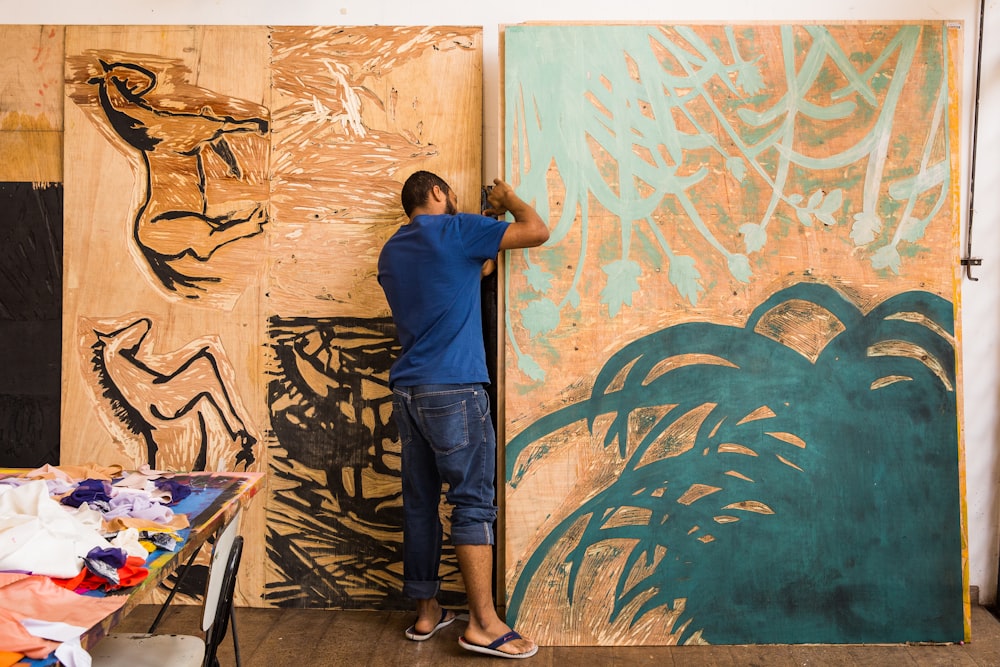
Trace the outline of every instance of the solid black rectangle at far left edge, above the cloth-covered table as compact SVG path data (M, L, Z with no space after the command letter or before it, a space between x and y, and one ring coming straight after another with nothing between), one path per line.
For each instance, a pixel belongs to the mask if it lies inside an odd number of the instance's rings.
M59 463L61 184L0 183L0 465Z

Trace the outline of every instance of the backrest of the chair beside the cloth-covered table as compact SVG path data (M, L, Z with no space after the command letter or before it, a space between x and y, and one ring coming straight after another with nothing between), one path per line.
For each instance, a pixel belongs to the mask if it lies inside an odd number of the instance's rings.
M239 516L222 531L212 550L212 564L205 593L205 613L202 630L205 631L205 667L218 664L216 651L226 638L229 618L236 592L236 577L243 555L243 537L238 535Z

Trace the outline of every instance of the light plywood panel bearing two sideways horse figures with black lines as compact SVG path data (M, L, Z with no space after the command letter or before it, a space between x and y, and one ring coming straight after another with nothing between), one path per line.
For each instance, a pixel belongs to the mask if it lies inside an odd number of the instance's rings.
M260 469L268 59L263 27L66 29L63 462Z

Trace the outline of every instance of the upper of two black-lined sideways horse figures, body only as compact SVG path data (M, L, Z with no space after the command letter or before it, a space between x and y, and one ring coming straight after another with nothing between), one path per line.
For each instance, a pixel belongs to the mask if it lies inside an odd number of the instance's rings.
M246 193L215 201L212 190L221 180L249 188L251 172L262 171L241 164L233 144L238 135L266 137L268 111L185 83L186 68L173 61L102 53L86 60L78 67L90 75L74 100L95 105L102 131L140 161L143 192L132 223L136 248L163 287L200 298L209 284L222 280L204 265L223 246L260 234L269 221L266 201ZM140 64L147 61L150 66ZM198 275L192 260L203 269Z

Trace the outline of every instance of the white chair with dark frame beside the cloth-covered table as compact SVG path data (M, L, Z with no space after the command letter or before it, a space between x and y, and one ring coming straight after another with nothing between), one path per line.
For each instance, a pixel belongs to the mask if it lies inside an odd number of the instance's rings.
M91 649L93 667L217 667L216 650L226 637L232 617L236 575L243 554L243 538L237 535L239 513L219 534L212 549L201 629L195 635L148 633L110 634ZM233 646L239 665L236 627Z

